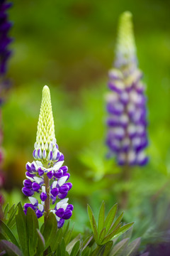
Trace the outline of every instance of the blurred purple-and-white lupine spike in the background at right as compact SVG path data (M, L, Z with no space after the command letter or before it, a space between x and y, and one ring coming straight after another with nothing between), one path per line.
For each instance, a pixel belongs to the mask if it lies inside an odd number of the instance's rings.
M120 16L114 68L109 71L107 111L109 155L115 155L119 165L145 165L147 141L145 85L137 68L132 14Z

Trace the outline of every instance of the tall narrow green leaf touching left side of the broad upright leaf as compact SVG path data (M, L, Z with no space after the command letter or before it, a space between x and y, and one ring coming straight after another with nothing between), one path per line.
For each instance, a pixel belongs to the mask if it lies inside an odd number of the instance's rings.
M21 249L24 256L29 256L28 253L28 235L26 230L26 215L23 212L21 203L18 203L18 215L16 215L16 228L18 238L21 244Z

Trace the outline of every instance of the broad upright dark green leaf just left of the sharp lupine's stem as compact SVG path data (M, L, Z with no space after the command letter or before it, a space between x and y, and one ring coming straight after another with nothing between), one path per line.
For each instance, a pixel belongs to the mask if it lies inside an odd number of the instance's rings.
M36 230L38 229L38 218L35 214L35 211L28 207L26 214L26 227L28 232L28 248L29 254L34 255L35 248L38 242L38 233Z

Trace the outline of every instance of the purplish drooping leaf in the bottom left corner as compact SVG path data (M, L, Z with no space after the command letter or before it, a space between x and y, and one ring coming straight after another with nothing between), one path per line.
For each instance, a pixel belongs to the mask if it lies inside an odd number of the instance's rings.
M21 250L19 250L19 248L12 242L6 240L0 241L0 251L3 250L5 250L6 254L10 256L22 256Z

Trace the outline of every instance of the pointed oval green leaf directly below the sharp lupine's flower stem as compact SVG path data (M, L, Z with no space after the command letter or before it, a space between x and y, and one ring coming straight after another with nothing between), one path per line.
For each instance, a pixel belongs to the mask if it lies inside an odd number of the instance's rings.
M43 237L45 239L45 249L49 247L55 240L57 233L57 220L54 213L50 212L45 223Z

